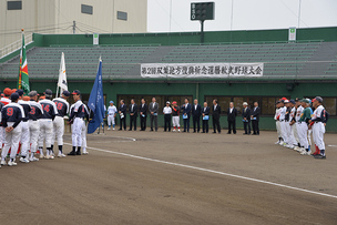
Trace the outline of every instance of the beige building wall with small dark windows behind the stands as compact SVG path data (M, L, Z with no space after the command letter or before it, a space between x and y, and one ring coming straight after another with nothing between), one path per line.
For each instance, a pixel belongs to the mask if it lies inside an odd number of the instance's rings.
M81 4L93 7L93 14L81 12ZM127 12L127 21L118 20L116 11ZM0 49L25 34L72 33L140 33L146 32L147 0L23 0L22 10L7 10L0 1Z

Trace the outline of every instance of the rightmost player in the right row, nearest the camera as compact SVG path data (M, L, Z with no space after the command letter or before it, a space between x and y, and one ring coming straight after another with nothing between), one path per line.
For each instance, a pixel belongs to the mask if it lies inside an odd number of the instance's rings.
M319 149L320 154L314 155L315 158L325 160L325 143L324 143L324 134L325 134L325 109L321 105L323 99L320 96L316 96L313 100L313 106L315 108L314 114L312 116L310 127L313 127L313 137L314 142Z

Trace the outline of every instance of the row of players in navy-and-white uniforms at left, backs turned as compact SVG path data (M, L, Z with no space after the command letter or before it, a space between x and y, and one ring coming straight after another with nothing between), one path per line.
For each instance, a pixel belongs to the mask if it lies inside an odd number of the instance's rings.
M52 100L52 91L47 89L39 99L37 91L24 96L22 90L6 88L0 100L0 164L17 165L16 156L19 153L22 163L39 161L35 157L38 151L40 158L53 160L55 141L59 146L58 156L65 157L63 134L64 116L68 115L68 123L72 124L72 151L68 155L81 155L81 147L83 154L88 154L84 119L89 120L89 112L81 101L79 90L72 92L74 104L71 106L67 101L70 95L69 91L63 91L60 98ZM9 152L10 160L6 162Z

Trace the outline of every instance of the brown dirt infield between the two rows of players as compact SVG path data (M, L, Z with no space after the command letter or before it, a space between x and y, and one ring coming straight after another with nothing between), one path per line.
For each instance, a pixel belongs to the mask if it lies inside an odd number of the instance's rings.
M89 155L0 168L0 222L336 224L336 137L319 161L275 145L275 132L89 135Z

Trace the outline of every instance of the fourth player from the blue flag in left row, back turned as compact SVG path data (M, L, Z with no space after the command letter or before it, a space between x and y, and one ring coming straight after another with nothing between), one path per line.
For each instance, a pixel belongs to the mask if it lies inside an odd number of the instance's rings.
M30 96L30 113L29 113L29 134L30 134L30 158L29 161L39 161L34 156L38 147L38 140L40 135L40 123L39 120L42 117L43 110L42 106L38 101L38 92L37 91L31 91L29 92Z

